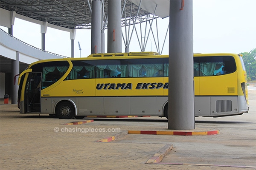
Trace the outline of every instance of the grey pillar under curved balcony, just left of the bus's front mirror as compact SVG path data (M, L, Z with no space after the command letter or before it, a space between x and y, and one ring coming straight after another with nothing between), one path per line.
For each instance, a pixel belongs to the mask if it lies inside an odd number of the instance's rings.
M20 52L16 51L16 60L12 61L12 104L17 104L18 88L17 81L14 84L13 79L15 75L20 74Z

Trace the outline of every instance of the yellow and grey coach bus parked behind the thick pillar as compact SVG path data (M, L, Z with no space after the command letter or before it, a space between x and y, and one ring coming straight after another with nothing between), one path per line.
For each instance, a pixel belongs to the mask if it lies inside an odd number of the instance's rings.
M89 115L168 117L168 55L91 54L34 62L18 79L20 113L72 119ZM173 80L175 81L175 80ZM246 71L238 54L194 54L195 116L248 112Z

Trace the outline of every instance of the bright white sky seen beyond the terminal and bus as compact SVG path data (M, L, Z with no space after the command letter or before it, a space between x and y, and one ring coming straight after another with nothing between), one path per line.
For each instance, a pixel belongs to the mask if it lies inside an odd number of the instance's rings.
M186 8L186 4L184 6ZM256 0L193 0L193 37L194 53L236 53L250 52L256 48ZM157 19L160 49L169 24L169 17ZM155 24L153 23L153 26ZM8 32L8 28L0 26ZM140 28L137 26L137 28ZM91 31L76 30L74 40L75 57L80 57L78 42L81 45L81 57L90 55ZM107 30L105 30L105 36ZM13 36L37 48L41 48L41 26L15 18ZM169 54L169 35L166 38L162 54ZM145 51L157 51L154 37ZM107 41L107 37L105 37ZM140 51L136 34L131 39L130 51ZM46 51L63 56L71 56L70 33L47 28ZM107 42L105 42L107 52ZM122 52L125 45L122 44Z

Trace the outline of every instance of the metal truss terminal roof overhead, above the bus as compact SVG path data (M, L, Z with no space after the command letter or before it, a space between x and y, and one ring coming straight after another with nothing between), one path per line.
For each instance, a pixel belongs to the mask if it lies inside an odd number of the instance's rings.
M70 29L90 29L91 28L91 2L92 0L0 0L0 8L15 11L35 20L47 21L55 26ZM108 14L108 0L104 2L104 21ZM140 0L121 0L122 6L125 3L125 12L122 14L122 26L131 19L137 17ZM157 10L154 10L157 6ZM140 5L140 17L152 14L153 17L169 16L169 0L142 0ZM126 14L125 14L126 13ZM131 18L130 18L131 14ZM135 20L134 20L135 21ZM146 20L136 20L140 23Z

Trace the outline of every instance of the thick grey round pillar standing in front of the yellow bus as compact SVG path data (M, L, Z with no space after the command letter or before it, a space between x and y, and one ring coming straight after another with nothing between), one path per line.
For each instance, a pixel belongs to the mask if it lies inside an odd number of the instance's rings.
M169 2L168 129L191 130L195 129L192 0Z

